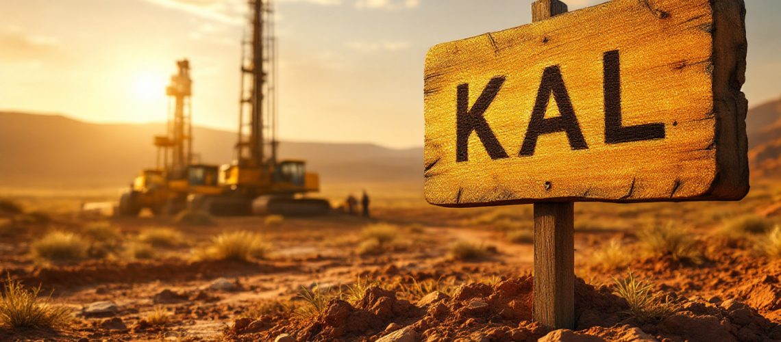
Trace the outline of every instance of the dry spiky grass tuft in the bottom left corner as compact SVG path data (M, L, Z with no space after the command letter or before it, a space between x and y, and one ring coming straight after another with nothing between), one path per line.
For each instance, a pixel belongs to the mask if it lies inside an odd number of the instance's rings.
M0 298L0 325L10 329L59 329L71 321L70 309L52 304L41 287L26 289L16 280L5 281Z

